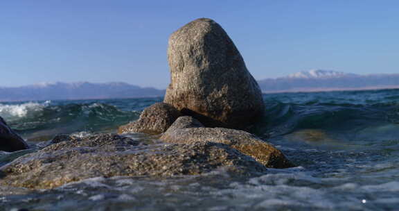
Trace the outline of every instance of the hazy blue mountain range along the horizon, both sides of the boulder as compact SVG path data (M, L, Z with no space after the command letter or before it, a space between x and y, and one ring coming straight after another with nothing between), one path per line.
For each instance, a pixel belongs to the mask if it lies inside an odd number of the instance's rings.
M281 78L258 81L264 93L317 92L399 88L399 74L347 74L314 69ZM128 83L41 83L21 87L0 87L0 101L40 101L57 99L113 99L163 96L165 90Z

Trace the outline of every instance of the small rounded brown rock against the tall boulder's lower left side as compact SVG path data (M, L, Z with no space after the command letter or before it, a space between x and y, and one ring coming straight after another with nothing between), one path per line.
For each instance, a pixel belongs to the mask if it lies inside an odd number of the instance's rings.
M172 105L154 103L143 110L139 120L119 127L118 133L163 133L180 116L180 112Z

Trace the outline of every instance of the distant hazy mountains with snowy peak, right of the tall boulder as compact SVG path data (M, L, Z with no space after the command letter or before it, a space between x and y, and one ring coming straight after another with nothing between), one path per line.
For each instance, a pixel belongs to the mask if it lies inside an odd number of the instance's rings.
M263 92L316 92L332 90L372 90L399 88L399 74L347 74L313 69L281 78L258 81Z

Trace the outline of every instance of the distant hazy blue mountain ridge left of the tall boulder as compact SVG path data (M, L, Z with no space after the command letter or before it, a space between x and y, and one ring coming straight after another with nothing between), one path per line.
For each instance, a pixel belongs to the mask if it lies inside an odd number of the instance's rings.
M0 101L57 99L112 99L163 96L165 90L142 88L128 83L42 83L21 87L0 87Z

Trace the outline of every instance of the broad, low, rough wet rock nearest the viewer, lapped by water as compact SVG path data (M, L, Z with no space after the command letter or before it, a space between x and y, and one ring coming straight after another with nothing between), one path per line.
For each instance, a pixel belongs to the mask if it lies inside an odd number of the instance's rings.
M221 143L147 145L111 134L63 136L55 142L1 167L0 185L42 189L98 176L169 177L220 167L245 175L266 171L253 158Z

